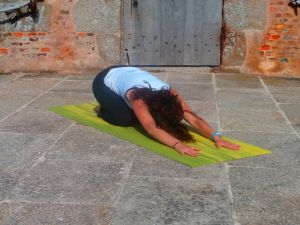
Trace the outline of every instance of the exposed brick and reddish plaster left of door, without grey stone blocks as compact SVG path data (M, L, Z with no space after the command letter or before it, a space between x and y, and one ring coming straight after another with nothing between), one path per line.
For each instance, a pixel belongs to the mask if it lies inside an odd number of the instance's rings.
M78 0L46 0L51 11L47 31L0 31L0 72L80 72L115 62L99 54L97 34L76 30ZM24 27L24 26L23 26ZM35 30L35 27L31 27Z

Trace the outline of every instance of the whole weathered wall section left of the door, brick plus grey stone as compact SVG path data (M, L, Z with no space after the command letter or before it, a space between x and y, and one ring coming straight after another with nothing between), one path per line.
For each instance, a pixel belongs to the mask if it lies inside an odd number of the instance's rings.
M77 72L118 63L120 9L119 0L45 0L37 18L5 21L2 14L0 72Z

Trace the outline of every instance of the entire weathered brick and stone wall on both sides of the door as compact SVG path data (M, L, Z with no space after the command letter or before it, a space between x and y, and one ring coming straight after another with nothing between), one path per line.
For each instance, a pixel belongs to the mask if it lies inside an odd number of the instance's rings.
M17 0L0 0L1 2ZM62 4L63 2L63 4ZM0 73L80 72L120 62L121 0L44 0L39 15L0 15ZM300 76L299 16L288 0L224 0L224 70ZM299 9L300 10L300 9Z

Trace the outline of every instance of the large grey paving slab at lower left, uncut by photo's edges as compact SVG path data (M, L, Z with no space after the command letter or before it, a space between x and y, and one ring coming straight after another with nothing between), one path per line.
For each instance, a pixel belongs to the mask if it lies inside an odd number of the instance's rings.
M121 190L121 174L102 172L98 162L47 160L22 176L11 191L12 200L111 205Z

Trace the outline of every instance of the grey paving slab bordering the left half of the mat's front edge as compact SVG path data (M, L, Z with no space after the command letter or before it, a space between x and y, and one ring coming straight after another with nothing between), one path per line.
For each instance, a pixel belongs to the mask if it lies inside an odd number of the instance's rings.
M84 125L72 126L52 148L47 159L128 161L136 146Z

